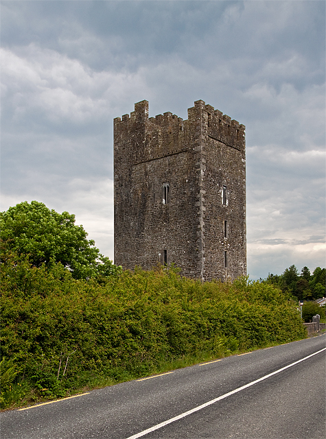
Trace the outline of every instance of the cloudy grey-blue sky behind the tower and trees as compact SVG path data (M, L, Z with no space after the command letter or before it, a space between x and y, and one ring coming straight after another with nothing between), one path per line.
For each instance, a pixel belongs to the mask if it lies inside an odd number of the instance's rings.
M113 259L113 118L246 125L248 274L325 266L325 1L1 1L1 211L75 213Z

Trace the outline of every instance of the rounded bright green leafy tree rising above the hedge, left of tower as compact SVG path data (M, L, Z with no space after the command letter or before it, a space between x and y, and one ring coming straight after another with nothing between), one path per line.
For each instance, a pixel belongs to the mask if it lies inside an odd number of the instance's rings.
M100 254L93 239L87 239L84 228L75 224L75 215L57 213L41 202L25 201L1 212L0 227L2 258L10 250L28 254L36 267L60 262L74 278L108 276L120 270Z

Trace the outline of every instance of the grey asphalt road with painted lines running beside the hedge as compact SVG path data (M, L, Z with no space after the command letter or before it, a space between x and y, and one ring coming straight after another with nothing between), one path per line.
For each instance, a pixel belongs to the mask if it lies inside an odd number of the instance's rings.
M1 439L325 439L326 335L1 413Z

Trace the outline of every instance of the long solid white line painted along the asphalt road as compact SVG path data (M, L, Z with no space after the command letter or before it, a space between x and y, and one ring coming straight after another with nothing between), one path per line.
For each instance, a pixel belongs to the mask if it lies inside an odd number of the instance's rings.
M301 363L301 361L305 361L305 359L308 359L308 358L310 358L310 357L313 357L314 355L317 355L318 353L321 353L321 352L323 352L323 351L325 351L325 350L326 350L326 348L323 348L323 349L321 349L321 351L317 351L317 352L315 352L315 353L313 353L313 354L311 354L311 355L308 355L307 357L304 357L304 358L299 359L298 361L294 361L294 363L289 364L288 366L285 366L285 367L283 367L283 368L281 368L281 369L275 370L275 372L269 373L268 375L265 375L264 377L261 377L261 378L259 378L259 379L256 379L255 381L251 381L251 383L248 383L248 384L246 384L246 385L242 385L241 387L239 387L239 388L237 388L237 389L235 389L235 390L232 390L231 392L228 392L228 393L226 393L226 394L224 394L224 395L222 395L222 396L218 396L218 398L211 399L211 401L208 401L207 403L202 404L202 405L198 405L198 407L194 407L194 409L191 409L191 410L188 410L187 412L181 413L181 414L179 414L178 416L174 416L174 418L167 419L167 420L165 420L163 423L160 423L160 424L154 425L153 427L150 427L150 428L148 428L148 429L146 429L146 430L140 431L140 432L137 433L137 434L133 434L132 436L129 436L129 437L126 438L126 439L137 439L137 438L141 438L141 436L145 436L146 434L151 433L152 431L155 431L155 430L158 430L158 429L160 429L160 428L162 428L162 427L165 427L165 425L168 425L168 424L174 423L176 420L179 420L179 419L185 418L185 416L189 416L189 414L192 414L192 413L198 412L198 410L205 409L205 407L208 407L208 406L211 405L211 404L217 403L218 401L221 401L222 399L225 399L225 398L227 398L228 396L231 396L231 395L233 395L233 394L235 394L235 393L237 393L237 392L240 392L241 390L244 390L244 389L246 389L246 388L248 388L248 387L251 387L251 385L254 385L254 384L256 384L256 383L259 383L260 381L264 381L264 379L267 379L267 378L269 378L269 377L272 377L273 375L276 375L277 373L282 372L283 370L286 370L286 369L288 369L288 368L291 368L291 367L294 366L295 364Z

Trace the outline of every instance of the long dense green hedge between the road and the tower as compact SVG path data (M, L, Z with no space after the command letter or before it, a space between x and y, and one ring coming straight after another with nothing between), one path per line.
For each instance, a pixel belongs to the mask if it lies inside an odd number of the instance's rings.
M84 281L61 263L36 267L7 254L1 283L1 349L16 389L3 407L28 392L66 396L94 380L305 337L290 294L248 278L201 283L172 267Z

